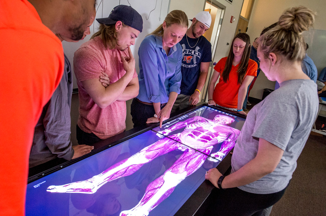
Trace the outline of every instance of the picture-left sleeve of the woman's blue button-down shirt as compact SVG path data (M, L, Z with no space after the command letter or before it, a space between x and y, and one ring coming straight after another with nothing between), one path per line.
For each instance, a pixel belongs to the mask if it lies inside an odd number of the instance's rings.
M148 100L152 103L158 103L161 100L158 63L155 43L145 38L138 50L139 61L141 63L144 83Z

